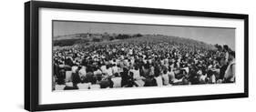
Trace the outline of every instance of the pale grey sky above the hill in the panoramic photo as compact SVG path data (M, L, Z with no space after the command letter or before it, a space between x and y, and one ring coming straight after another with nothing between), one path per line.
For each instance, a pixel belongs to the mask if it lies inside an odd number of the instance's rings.
M217 27L193 27L171 25L130 25L92 22L54 21L53 35L64 36L78 33L156 34L180 36L200 40L208 44L228 45L235 49L235 29Z

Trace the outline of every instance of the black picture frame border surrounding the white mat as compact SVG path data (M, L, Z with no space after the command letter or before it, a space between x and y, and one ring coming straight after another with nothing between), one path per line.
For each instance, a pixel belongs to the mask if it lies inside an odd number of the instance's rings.
M201 16L201 17L217 17L232 18L244 20L244 92L234 94L205 95L205 96L189 96L189 97L159 97L144 99L128 99L115 101L97 101L84 103L66 103L53 105L39 105L39 87L38 87L38 9L58 8L58 9L77 9L91 11L108 11L121 13L137 13L137 14L154 14L154 15L185 15L185 16ZM30 1L25 3L25 109L29 111L40 110L58 110L86 107L113 107L125 105L141 105L155 103L169 103L181 101L223 99L236 97L249 97L248 87L248 49L249 49L249 15L211 13L184 10L155 9L142 7L114 6L114 5L85 5L73 3L57 3L57 2L41 2Z

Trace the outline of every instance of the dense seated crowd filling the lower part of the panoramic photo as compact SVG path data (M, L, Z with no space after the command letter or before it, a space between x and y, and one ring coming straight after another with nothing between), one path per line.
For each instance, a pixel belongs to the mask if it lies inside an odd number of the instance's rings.
M169 42L118 42L53 51L53 90L235 82L235 52Z

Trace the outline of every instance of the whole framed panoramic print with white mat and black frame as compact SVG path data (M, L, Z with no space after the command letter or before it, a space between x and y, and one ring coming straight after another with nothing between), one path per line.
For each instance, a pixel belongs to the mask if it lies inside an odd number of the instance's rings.
M25 108L248 97L248 39L246 14L29 1Z

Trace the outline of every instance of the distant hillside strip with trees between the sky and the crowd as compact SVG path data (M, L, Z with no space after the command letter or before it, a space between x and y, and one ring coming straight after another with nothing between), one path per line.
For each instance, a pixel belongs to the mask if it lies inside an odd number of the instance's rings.
M109 35L109 34L77 34L70 36L59 36L54 39L54 46L87 46L87 45L105 45L119 43L143 43L152 44L169 43L171 45L186 45L190 47L204 47L213 49L214 46L204 42L183 38L178 36L162 36L162 35Z

